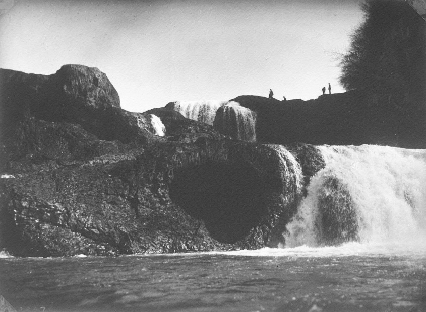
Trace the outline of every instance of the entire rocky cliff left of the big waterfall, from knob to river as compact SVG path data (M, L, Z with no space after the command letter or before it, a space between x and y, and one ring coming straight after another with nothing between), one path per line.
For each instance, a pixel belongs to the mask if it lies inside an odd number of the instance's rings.
M314 146L286 154L178 112L126 112L96 68L2 69L0 85L0 248L15 256L276 246L303 196L294 168L306 184L324 166Z

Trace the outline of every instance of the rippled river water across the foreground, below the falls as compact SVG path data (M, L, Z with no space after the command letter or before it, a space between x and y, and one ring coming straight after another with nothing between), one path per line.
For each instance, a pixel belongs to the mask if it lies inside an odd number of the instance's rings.
M17 311L426 310L424 247L10 257L0 259L0 276Z

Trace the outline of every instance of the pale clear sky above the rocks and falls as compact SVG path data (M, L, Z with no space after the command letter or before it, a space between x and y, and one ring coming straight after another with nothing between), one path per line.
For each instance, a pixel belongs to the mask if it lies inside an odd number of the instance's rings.
M97 67L121 108L239 95L309 100L338 84L359 0L0 0L0 68Z

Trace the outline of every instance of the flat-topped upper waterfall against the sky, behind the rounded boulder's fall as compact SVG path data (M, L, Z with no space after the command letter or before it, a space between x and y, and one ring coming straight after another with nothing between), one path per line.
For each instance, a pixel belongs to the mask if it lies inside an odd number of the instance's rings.
M185 117L213 125L216 111L219 107L226 105L227 101L178 101L166 105L175 111L178 111Z

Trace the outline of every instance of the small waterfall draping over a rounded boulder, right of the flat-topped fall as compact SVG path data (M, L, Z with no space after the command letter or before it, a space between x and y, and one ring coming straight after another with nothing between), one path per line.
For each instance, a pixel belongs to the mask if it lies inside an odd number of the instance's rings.
M214 127L234 139L256 142L256 113L237 102L229 102L217 110Z

